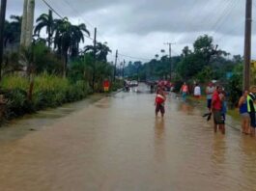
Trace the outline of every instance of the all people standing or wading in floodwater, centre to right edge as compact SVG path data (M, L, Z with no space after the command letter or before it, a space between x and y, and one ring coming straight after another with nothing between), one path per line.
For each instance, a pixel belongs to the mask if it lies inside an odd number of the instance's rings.
M183 100L186 100L188 95L188 86L184 83L181 88L181 94ZM194 87L194 96L200 97L201 89L198 85ZM225 119L227 112L227 103L225 101L225 92L221 86L214 86L213 83L209 83L206 87L207 107L209 109L208 117L211 119L213 115L213 130L221 131L225 134ZM166 94L161 87L156 91L156 117L160 111L161 117L164 117L165 109L164 102L166 100ZM249 91L244 91L239 100L239 111L242 118L242 133L255 136L256 128L256 86L250 88Z

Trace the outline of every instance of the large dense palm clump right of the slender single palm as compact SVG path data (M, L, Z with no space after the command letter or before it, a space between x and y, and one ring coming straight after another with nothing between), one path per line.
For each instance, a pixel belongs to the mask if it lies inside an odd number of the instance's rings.
M77 56L79 42L84 41L84 33L90 36L85 24L72 25L67 17L55 19L54 48L63 58L63 75L66 76L69 56Z

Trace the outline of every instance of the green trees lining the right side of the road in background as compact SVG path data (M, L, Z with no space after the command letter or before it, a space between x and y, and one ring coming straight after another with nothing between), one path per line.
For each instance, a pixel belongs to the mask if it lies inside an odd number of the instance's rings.
M129 63L125 68L125 75L131 79L143 81L171 79L176 91L180 90L183 82L193 86L194 82L202 88L216 80L224 86L230 102L235 105L242 92L242 57L230 54L218 48L213 38L207 35L200 36L194 41L190 49L185 46L179 56L170 58L160 50L162 56L156 54L150 62L142 65L141 62ZM204 91L203 91L204 92Z

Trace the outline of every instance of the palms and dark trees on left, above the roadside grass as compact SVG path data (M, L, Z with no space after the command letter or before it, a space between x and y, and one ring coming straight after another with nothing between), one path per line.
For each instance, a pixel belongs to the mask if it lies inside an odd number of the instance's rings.
M104 78L111 78L114 68L107 62L111 52L107 42L81 46L90 32L84 23L74 25L68 17L54 18L52 11L36 20L32 45L19 46L22 16L6 20L4 32L4 75L25 70L29 75L42 72L63 75L73 80L88 80L100 91ZM43 38L43 34L46 37ZM75 79L74 79L75 78Z

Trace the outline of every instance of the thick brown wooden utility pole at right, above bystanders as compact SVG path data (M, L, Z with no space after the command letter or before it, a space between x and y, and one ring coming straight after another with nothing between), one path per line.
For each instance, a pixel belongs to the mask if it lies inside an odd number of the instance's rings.
M252 0L246 0L245 31L244 31L244 65L243 65L243 90L250 87L250 59L251 59L251 12Z

